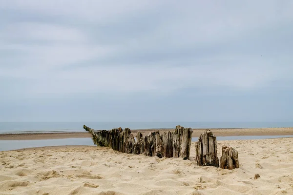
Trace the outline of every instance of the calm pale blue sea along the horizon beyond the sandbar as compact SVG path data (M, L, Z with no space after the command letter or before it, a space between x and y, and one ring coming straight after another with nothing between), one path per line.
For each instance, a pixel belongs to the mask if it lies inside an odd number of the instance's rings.
M36 132L83 132L83 125L96 130L175 128L265 128L293 127L293 122L0 122L0 134Z

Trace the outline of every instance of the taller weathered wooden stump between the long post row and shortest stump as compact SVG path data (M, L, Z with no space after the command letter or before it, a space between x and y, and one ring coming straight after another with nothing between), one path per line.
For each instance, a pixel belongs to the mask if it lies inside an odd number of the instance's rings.
M196 142L196 162L198 166L219 167L219 158L217 156L217 140L212 132L206 130L202 133Z

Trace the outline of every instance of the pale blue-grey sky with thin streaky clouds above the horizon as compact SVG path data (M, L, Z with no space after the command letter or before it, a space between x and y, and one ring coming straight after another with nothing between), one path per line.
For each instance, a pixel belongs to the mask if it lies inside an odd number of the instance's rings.
M0 0L0 121L293 121L292 0Z

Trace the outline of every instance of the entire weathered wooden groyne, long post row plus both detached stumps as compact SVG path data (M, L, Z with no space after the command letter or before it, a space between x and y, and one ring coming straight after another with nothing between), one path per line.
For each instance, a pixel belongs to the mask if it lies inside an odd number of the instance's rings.
M144 154L146 156L182 157L189 159L191 146L191 128L176 126L175 131L151 132L143 137L137 132L134 137L129 128L112 130L94 130L84 125L84 129L93 135L95 144L110 147L127 154ZM210 130L206 130L195 143L195 161L198 166L214 166L222 169L239 168L238 152L228 146L222 147L221 163L217 156L217 140Z

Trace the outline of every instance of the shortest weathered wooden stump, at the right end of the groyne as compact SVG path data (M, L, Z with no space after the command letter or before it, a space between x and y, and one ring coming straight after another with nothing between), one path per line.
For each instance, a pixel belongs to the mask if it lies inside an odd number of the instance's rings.
M221 168L222 169L239 168L237 150L235 150L232 147L222 146Z

